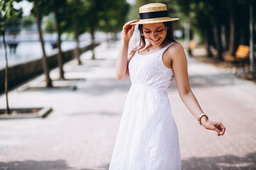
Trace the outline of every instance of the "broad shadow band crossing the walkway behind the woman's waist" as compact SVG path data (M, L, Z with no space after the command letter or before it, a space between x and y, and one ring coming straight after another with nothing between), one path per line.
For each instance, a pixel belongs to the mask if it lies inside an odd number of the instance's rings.
M207 88L213 86L234 86L237 83L234 82L232 75L229 74L214 74L214 75L192 75L189 76L190 86L193 88ZM79 84L79 82L77 83ZM116 78L98 78L90 79L90 81L85 82L85 86L77 86L76 91L72 90L45 90L43 93L86 93L88 95L104 95L112 93L112 91L129 91L131 86L130 78L128 77L125 80L117 80ZM174 91L177 90L175 79L171 82L170 88L168 90Z

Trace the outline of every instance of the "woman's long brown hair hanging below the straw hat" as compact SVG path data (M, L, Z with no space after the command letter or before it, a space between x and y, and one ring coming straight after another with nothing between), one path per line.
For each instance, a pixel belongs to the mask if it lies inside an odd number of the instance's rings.
M169 22L163 22L164 25L168 28L167 29L167 35L166 35L166 39L170 40L171 42L176 42L174 40L174 35L173 35L173 22L169 21ZM141 36L141 34L143 34L143 29L142 29L142 24L138 25L138 29L139 29L139 45L135 46L134 49L132 49L131 53L135 53L136 51L139 51L140 49L143 49L146 46L146 41L145 41L145 37ZM142 44L142 45L141 45Z

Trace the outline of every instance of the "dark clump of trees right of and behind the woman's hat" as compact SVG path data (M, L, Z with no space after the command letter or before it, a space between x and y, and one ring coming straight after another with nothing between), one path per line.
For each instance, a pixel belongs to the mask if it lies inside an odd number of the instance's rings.
M189 20L191 30L205 43L207 56L212 57L210 46L222 52L235 54L239 44L249 45L249 5L256 9L255 0L160 0L174 9L175 16ZM153 0L137 0L135 8ZM171 16L171 15L170 15ZM254 15L255 16L255 15ZM254 22L256 17L254 17ZM180 22L181 25L183 22Z

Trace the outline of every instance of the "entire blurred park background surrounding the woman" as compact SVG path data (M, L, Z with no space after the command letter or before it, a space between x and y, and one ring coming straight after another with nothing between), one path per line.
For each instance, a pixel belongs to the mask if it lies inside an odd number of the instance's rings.
M154 2L0 0L0 170L108 170L131 85L115 76L121 30ZM157 2L180 18L191 89L226 128L199 126L173 79L182 170L255 170L256 0ZM136 26L129 51L138 40Z

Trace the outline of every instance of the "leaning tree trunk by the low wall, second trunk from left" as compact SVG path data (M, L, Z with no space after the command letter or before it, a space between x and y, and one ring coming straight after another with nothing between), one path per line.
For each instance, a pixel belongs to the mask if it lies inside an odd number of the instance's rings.
M47 57L46 57L46 53L45 53L45 46L44 46L42 31L41 31L41 27L40 27L40 15L39 15L38 0L35 0L34 5L35 5L35 9L36 9L36 24L37 24L38 34L39 34L42 51L43 51L43 60L42 61L43 61L43 70L44 70L45 76L46 76L46 86L52 87L52 79L50 78L50 75L49 75L49 67L48 67Z

